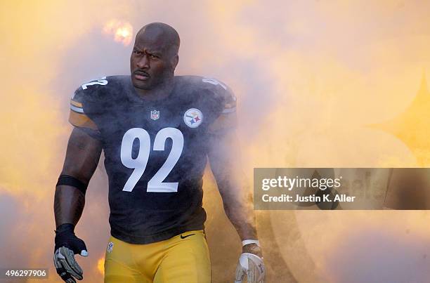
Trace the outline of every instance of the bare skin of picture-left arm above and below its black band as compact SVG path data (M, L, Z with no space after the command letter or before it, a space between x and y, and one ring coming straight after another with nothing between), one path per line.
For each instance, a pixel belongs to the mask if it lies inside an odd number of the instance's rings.
M74 128L67 144L62 175L77 178L88 184L97 168L102 145L84 131ZM76 225L84 210L85 195L76 187L58 185L54 198L56 227L64 223Z

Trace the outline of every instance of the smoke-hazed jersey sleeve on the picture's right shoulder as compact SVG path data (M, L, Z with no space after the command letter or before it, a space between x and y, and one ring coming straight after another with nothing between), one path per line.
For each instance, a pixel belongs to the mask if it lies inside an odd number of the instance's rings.
M237 100L233 91L220 81L216 81L215 79L207 80L211 80L209 83L214 84L214 92L216 92L216 96L219 98L220 103L219 107L217 107L220 111L214 121L209 125L209 132L223 133L235 129L237 125Z

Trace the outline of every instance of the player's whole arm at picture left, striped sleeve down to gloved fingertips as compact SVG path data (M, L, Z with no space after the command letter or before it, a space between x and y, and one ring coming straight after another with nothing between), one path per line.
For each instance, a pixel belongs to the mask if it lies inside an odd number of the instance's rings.
M58 275L67 283L83 278L84 272L74 255L88 256L88 252L84 241L74 235L74 227L82 216L86 187L96 171L102 151L100 132L89 117L93 110L85 104L89 94L85 89L78 88L70 101L69 121L74 129L67 143L54 197L56 239L53 261Z

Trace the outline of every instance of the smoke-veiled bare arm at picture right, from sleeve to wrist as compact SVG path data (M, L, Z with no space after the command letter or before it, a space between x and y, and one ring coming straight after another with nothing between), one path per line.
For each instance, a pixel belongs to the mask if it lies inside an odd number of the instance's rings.
M257 239L252 192L247 187L240 169L240 153L235 133L229 131L216 136L208 156L228 219L240 239Z

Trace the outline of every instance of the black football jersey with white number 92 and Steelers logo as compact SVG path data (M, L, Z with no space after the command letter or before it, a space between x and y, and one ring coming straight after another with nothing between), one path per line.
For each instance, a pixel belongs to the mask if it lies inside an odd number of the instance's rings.
M235 97L215 79L175 77L167 98L138 96L130 76L80 86L70 122L103 143L113 237L133 244L204 228L209 141L235 125Z

